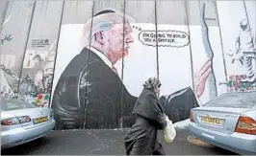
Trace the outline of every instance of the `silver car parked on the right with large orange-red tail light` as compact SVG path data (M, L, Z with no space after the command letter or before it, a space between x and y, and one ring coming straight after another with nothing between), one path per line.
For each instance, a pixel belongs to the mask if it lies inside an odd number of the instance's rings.
M239 154L256 154L256 92L227 93L192 108L194 137Z

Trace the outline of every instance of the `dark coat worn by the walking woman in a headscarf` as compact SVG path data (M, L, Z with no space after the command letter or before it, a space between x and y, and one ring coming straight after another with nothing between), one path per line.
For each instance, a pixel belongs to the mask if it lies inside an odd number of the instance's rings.
M143 89L133 114L137 120L124 139L126 154L151 155L156 151L165 154L157 140L157 130L166 127L164 109L152 90Z

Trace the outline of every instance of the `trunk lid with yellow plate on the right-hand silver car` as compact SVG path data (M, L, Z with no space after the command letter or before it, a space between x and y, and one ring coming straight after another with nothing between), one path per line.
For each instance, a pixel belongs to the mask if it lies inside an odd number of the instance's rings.
M198 126L231 134L235 131L241 113L248 108L199 107L192 109L194 123Z

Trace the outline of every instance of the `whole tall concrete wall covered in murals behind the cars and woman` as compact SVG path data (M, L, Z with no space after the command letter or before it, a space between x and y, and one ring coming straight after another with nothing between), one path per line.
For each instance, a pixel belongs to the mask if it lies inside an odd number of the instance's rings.
M52 107L58 129L122 128L142 83L173 123L256 89L255 1L1 1L1 99Z

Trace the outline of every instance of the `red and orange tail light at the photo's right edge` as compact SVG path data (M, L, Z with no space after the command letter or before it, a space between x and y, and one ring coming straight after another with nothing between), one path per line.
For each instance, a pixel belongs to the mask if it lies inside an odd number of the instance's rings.
M236 132L256 135L256 122L249 117L240 116Z

